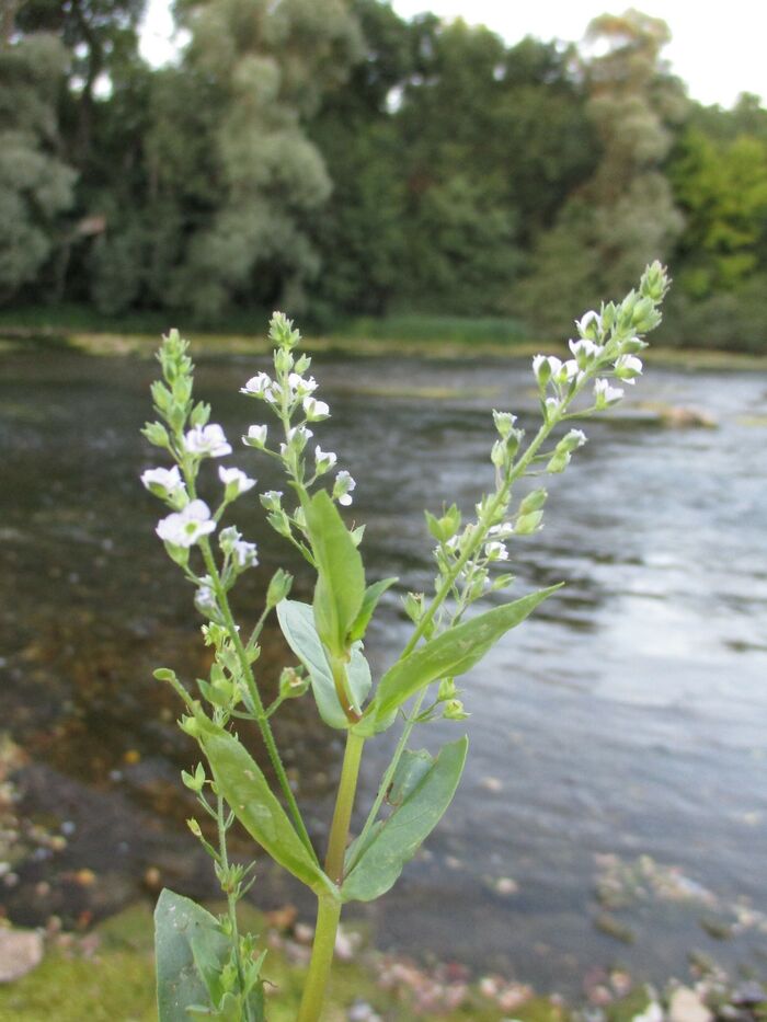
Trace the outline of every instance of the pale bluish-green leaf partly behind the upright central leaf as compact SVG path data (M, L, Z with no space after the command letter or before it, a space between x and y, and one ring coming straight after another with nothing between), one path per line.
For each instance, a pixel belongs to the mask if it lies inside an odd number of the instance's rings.
M320 716L329 727L348 727L350 722L335 693L333 675L325 651L317 634L311 607L298 600L283 600L277 605L277 619L287 644L309 673L311 690ZM352 694L356 704L362 707L373 682L370 667L356 645L352 646L352 656L346 670Z

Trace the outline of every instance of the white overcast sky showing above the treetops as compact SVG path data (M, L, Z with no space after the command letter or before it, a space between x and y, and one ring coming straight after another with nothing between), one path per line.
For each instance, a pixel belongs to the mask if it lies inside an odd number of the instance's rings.
M141 51L152 64L170 59L171 0L149 0ZM692 99L730 107L741 92L755 92L767 101L767 4L764 0L728 0L723 4L700 0L393 0L403 18L433 11L440 18L462 18L469 24L485 24L515 43L526 35L541 39L579 42L597 14L622 13L637 7L662 18L671 27L672 42L663 56L689 88Z

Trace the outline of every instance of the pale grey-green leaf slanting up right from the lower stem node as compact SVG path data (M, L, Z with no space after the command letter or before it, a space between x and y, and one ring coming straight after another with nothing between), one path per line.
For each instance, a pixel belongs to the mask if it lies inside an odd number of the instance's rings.
M428 757L430 762L422 754L410 754L404 768L407 777L400 778L402 802L370 832L357 864L341 887L344 902L371 902L396 883L405 862L413 858L453 801L468 747L466 737L451 742L436 759ZM352 846L347 853L350 862L354 854Z

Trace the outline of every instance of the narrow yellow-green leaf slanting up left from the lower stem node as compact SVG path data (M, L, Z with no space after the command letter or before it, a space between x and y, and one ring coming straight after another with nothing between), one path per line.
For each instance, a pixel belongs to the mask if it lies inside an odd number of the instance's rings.
M332 882L307 851L248 749L234 735L207 717L198 716L196 723L216 790L248 834L275 862L317 894L333 889Z

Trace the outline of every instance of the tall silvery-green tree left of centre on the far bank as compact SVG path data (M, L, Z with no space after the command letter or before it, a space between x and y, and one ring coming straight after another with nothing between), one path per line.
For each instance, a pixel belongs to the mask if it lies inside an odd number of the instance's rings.
M172 297L201 318L231 301L297 309L319 260L306 219L331 182L305 124L358 51L342 0L208 0L182 9L185 69L218 100L215 208L201 217Z

